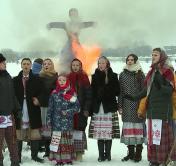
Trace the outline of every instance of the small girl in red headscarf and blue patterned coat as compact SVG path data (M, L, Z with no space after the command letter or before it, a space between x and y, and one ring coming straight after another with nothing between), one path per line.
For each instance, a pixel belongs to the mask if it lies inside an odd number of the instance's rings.
M47 113L47 124L52 128L49 159L55 160L56 165L72 164L75 159L72 131L77 112L79 102L75 90L66 75L61 74L50 96Z

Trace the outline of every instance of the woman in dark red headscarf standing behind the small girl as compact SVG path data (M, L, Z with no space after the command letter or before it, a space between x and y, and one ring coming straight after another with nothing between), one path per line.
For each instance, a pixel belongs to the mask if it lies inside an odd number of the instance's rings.
M87 149L87 139L85 129L91 104L91 88L87 74L82 69L82 63L79 59L73 59L71 62L71 73L68 78L76 89L80 103L80 112L74 115L74 150L76 160L81 161L84 150Z

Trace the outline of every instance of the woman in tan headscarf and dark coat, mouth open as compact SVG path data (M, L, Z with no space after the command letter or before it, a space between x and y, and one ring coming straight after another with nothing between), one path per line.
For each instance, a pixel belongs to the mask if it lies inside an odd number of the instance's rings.
M51 139L51 129L47 127L46 117L48 110L49 96L53 89L56 87L57 73L54 69L54 63L51 59L44 59L42 64L42 70L39 73L40 80L42 82L41 94L38 97L40 108L41 108L41 117L42 117L42 130L41 135L45 144L45 155L44 157L49 156L49 144Z

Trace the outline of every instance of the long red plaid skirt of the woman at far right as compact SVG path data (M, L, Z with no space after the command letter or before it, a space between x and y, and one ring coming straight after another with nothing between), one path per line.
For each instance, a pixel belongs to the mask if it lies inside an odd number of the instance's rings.
M172 126L166 122L162 122L162 132L160 145L148 145L148 160L151 162L164 163L173 146L174 137ZM176 151L171 155L173 161L176 160Z

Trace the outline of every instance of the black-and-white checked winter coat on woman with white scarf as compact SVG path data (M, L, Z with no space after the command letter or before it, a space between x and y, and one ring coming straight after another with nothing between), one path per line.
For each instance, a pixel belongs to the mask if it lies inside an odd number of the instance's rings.
M123 98L124 94L138 94L144 87L145 76L141 71L129 71L124 69L119 76L120 96L119 108L122 109L122 121L140 123L142 119L138 118L137 109L139 101L130 101Z

